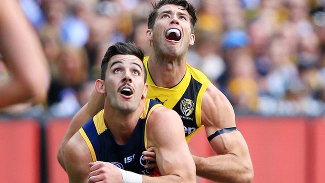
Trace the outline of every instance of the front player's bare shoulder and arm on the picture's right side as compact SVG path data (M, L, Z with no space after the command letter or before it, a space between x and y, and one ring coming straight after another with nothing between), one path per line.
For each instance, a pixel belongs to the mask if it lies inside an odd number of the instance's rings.
M184 128L178 114L158 107L147 122L147 143L156 153L162 176L143 176L146 182L195 182L195 166L190 155Z

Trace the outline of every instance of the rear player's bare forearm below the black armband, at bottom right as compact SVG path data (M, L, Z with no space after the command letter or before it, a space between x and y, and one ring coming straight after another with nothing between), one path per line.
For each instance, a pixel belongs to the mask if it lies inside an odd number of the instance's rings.
M209 157L192 156L198 176L217 182L252 182L252 167L245 165L234 154Z

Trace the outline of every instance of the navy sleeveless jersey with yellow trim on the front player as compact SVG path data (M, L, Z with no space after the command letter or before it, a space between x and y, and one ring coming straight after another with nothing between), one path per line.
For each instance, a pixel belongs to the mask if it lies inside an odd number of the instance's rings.
M142 152L147 148L146 121L151 111L161 106L156 100L145 99L145 105L130 139L123 145L116 143L103 119L104 109L85 123L79 132L85 140L93 161L105 161L115 166L139 174L149 174L152 168L143 166L148 162L143 160Z

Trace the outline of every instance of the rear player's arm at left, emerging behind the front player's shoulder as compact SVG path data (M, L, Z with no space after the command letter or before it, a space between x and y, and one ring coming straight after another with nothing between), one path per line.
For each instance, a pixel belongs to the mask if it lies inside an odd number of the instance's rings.
M78 129L86 123L92 116L99 112L103 108L104 97L103 95L97 93L95 90L92 91L88 103L86 103L72 118L68 129L66 130L63 139L61 140L58 152L57 160L61 166L65 169L64 165L64 149L66 142L71 138L71 136L78 131Z

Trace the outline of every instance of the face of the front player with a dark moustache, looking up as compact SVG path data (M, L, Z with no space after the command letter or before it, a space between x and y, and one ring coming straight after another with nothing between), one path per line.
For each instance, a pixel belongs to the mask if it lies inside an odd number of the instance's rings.
M142 61L134 55L116 54L108 62L104 80L109 105L126 112L134 111L146 95Z

